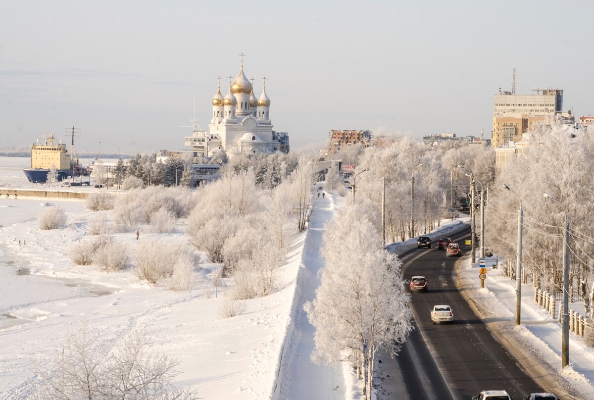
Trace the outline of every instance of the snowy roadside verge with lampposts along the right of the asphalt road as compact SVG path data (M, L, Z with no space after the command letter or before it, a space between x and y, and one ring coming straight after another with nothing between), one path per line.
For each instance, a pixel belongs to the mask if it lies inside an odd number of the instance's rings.
M492 263L494 259L487 259L488 266ZM465 293L477 305L482 319L494 321L488 323L489 329L495 335L509 336L512 343L536 355L548 373L553 376L560 373L566 381L562 385L576 392L576 398L594 399L594 348L587 347L583 338L570 332L570 362L561 371L561 324L535 303L530 281L522 285L521 324L517 326L516 280L505 276L501 268L489 267L485 287L481 288L479 264L471 264L469 257L461 264L458 276ZM569 309L584 315L583 303L570 303Z

